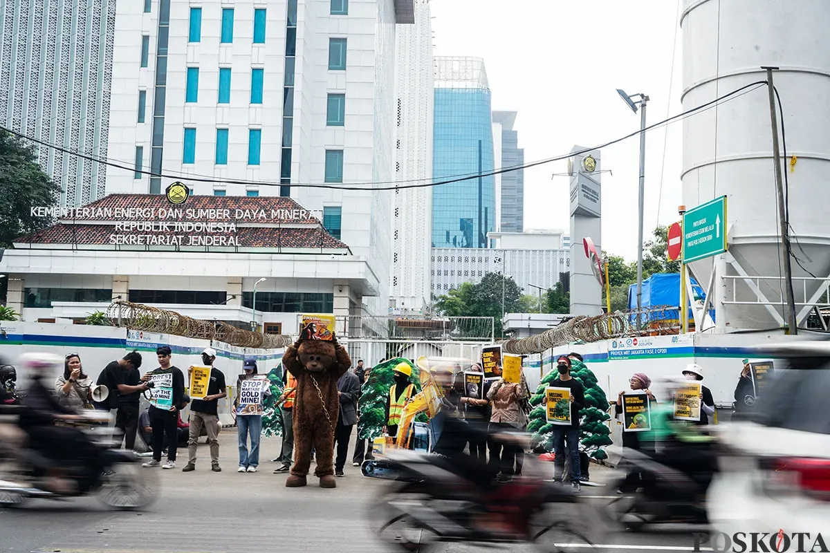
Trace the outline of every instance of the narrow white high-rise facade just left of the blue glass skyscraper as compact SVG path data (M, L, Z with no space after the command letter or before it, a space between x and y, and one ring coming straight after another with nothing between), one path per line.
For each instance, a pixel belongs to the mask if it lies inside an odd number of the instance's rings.
M432 24L429 0L413 0L415 24L398 27L391 313L422 313L430 298L432 187Z

